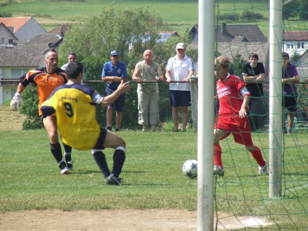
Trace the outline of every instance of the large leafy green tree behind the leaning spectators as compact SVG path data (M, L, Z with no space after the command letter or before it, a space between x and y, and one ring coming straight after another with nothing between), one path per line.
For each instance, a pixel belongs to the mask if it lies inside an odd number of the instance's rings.
M149 8L117 9L114 6L103 8L99 16L92 17L82 25L74 26L66 33L65 41L60 49L60 60L65 60L68 52L74 51L78 59L84 64L86 80L100 80L103 64L109 61L110 51L117 49L121 53L121 60L130 70L142 60L145 49L151 49L154 61L161 64L162 69L169 57L175 55L175 47L179 42L188 42L184 38L172 37L164 44L156 42L158 31L163 21L157 13ZM160 29L161 30L161 29ZM147 32L148 36L145 36ZM91 86L105 95L105 84L91 84ZM136 127L138 118L137 84L132 83L132 91L127 93L122 124L125 127ZM161 120L171 117L169 106L168 85L160 84ZM105 109L98 110L99 123L105 125Z

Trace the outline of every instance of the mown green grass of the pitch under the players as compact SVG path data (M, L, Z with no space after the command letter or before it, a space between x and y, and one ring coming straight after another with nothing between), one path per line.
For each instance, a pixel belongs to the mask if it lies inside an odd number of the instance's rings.
M167 125L170 126L170 125ZM74 170L60 175L46 131L0 132L0 212L28 209L197 208L197 181L182 174L187 159L197 159L197 133L118 133L127 143L123 186L105 184L90 151L73 150ZM308 228L308 154L305 131L284 137L283 197L268 198L268 176L233 137L221 141L225 176L215 180L216 208L257 216L271 227ZM267 132L253 134L268 160ZM112 166L112 150L105 151Z

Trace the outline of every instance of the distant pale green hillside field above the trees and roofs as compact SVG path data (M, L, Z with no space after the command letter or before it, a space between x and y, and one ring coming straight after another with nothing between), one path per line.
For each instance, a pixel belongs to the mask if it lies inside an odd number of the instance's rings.
M0 0L0 3L6 3ZM180 34L198 23L197 0L87 0L86 2L52 2L42 0L13 1L12 4L2 6L0 11L12 12L14 16L33 16L45 29L51 30L61 24L78 24L86 22L93 15L98 15L103 7L114 5L117 8L150 7L157 11L164 23L169 25L168 30L176 30ZM265 36L269 36L268 28L268 1L251 0L219 0L216 1L216 11L219 13L254 11L262 13L265 20L258 22L234 22L233 24L258 24ZM294 20L294 19L293 19ZM221 23L221 22L219 22ZM229 24L229 23L228 23ZM287 30L307 30L308 24L304 21L287 21ZM164 26L163 30L166 29Z

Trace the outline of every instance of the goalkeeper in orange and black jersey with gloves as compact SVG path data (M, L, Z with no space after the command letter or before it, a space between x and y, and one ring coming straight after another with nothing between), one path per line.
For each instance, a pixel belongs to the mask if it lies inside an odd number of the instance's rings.
M21 94L28 86L32 83L36 86L38 95L38 116L44 124L47 130L50 142L50 151L61 169L61 174L67 174L68 171L72 170L73 160L71 158L72 148L68 145L64 145L64 159L57 159L57 153L62 153L61 146L58 141L58 134L56 130L56 122L53 117L47 117L43 119L42 112L40 111L41 104L49 97L50 93L58 86L67 83L67 77L65 72L60 69L58 64L58 55L55 50L51 49L46 51L44 63L45 67L37 68L28 71L26 74L22 75L20 78L20 84L18 84L16 93L11 101L11 108L17 110L21 101Z

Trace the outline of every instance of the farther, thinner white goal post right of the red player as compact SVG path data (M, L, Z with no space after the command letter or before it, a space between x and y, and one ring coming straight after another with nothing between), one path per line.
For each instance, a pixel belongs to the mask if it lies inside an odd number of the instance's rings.
M282 0L269 5L269 198L281 197Z

